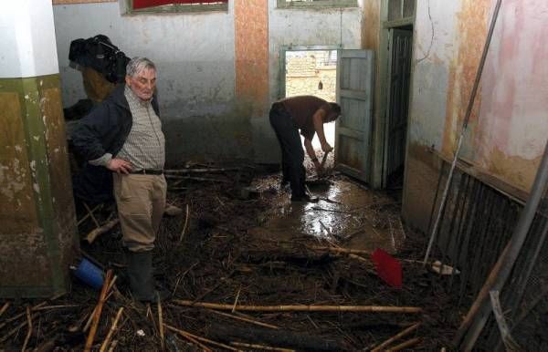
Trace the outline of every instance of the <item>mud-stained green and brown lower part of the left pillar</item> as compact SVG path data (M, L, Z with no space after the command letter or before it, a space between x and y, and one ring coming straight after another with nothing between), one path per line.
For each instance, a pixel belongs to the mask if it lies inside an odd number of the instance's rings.
M64 293L78 251L58 75L0 79L0 297Z

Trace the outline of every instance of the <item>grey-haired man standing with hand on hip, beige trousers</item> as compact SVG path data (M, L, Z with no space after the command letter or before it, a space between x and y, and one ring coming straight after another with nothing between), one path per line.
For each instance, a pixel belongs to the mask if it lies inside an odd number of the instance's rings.
M129 250L132 295L153 301L153 247L165 206L163 177L165 141L155 97L156 67L134 57L126 67L125 85L116 88L72 136L75 149L89 160L95 174L110 173Z

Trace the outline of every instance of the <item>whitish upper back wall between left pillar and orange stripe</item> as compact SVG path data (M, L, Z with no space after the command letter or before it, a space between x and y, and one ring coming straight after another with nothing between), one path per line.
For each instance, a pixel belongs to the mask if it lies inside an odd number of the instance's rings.
M234 95L232 8L207 14L121 16L117 3L54 6L63 100L85 98L81 76L68 67L77 38L103 34L128 57L149 57L158 67L163 118L219 113Z

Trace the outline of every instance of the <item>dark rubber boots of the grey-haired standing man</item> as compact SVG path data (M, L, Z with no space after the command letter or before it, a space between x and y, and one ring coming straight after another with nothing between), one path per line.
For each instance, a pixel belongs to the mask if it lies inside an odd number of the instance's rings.
M156 291L153 275L153 251L130 252L128 276L133 298L141 302L157 302L168 298L169 293Z

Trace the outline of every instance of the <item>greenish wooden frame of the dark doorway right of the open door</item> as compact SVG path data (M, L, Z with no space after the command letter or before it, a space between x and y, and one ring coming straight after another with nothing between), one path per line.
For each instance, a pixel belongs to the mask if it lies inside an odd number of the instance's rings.
M416 14L416 4L414 14ZM376 101L376 113L374 116L378 117L377 123L374 123L374 155L373 155L373 174L371 178L372 186L375 189L385 188L386 187L386 175L385 175L385 150L387 147L388 140L386 139L386 129L388 128L388 109L386 103L389 98L389 79L390 79L390 67L389 61L391 58L391 52L389 50L390 40L391 40L391 29L398 28L403 26L412 26L413 27L413 37L415 38L415 18L416 16L406 17L403 19L388 21L388 1L381 1L380 8L380 28L379 28L379 47L378 47L378 72L379 72L379 94L378 100ZM385 49L386 48L386 49ZM409 109L411 108L411 101L413 97L413 77L415 72L415 65L413 62L415 46L412 45L411 48L411 73L409 78ZM409 117L407 117L408 119ZM406 138L406 155L408 147L408 133L409 128L407 127L407 138ZM406 180L406 171L404 171L404 182Z

